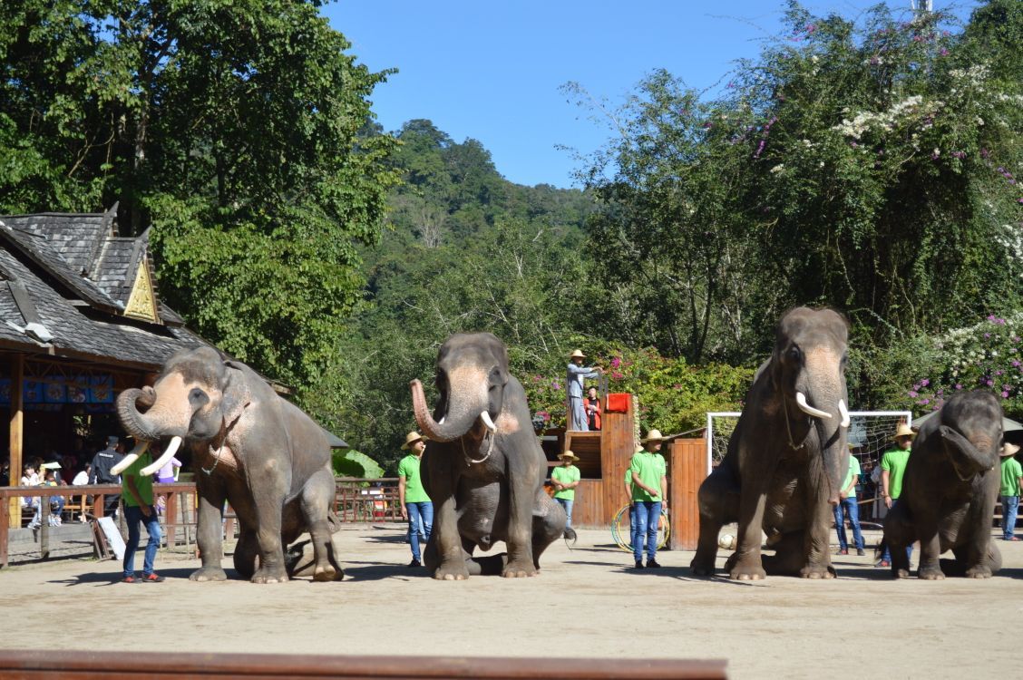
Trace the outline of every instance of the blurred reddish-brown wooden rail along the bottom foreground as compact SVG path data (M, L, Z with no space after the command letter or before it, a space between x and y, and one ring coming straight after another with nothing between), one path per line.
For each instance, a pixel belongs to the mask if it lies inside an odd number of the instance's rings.
M668 680L725 678L727 662L685 659L342 656L319 654L124 653L0 650L0 677L76 678L479 678Z

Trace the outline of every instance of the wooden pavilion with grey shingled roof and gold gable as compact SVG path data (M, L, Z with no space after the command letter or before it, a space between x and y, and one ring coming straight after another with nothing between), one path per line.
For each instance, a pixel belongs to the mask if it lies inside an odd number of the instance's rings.
M149 231L121 236L116 215L115 205L0 216L0 437L11 484L30 456L91 458L97 442L76 427L119 434L115 396L151 383L178 350L205 344L160 301ZM16 527L20 508L10 509Z

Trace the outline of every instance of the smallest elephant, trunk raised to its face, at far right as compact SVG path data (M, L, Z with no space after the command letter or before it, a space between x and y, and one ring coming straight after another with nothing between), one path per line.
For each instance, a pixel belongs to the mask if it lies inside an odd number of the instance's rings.
M902 493L885 517L892 576L909 576L905 547L920 540L918 576L986 579L1002 569L991 517L1002 483L1002 406L989 392L958 392L920 427ZM951 550L953 559L939 559Z

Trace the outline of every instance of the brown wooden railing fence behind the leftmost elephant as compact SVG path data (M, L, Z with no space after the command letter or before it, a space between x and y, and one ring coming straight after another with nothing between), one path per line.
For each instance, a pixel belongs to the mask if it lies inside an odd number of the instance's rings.
M11 517L14 508L23 498L40 498L42 524L39 532L39 556L49 557L50 532L54 529L46 522L49 498L62 496L68 499L91 496L92 503L86 510L91 518L103 516L105 497L120 494L119 484L95 484L80 487L0 487L0 568L9 563ZM164 535L168 546L179 542L190 548L195 536L195 485L190 482L153 485L155 499L163 498ZM155 500L154 499L154 500ZM25 511L26 508L23 508ZM28 510L32 511L32 510ZM398 503L398 479L366 480L338 478L335 493L335 511L344 523L400 522L401 507ZM233 512L225 515L233 525ZM226 527L227 535L233 536L233 527Z

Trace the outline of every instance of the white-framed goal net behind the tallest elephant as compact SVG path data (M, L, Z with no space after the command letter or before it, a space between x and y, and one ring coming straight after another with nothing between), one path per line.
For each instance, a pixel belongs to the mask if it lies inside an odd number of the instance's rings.
M707 473L716 467L728 451L728 439L739 422L739 412L707 414ZM913 424L909 411L850 411L849 444L852 455L859 460L860 486L870 486L871 472L880 464L881 455L892 445L892 435L900 422ZM861 489L860 497L869 490Z

